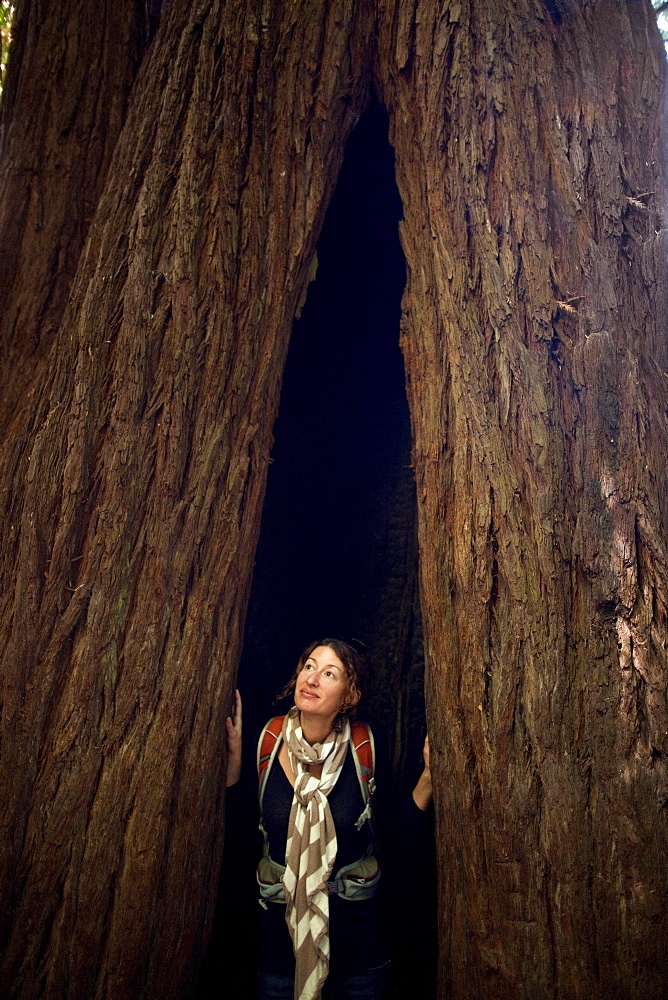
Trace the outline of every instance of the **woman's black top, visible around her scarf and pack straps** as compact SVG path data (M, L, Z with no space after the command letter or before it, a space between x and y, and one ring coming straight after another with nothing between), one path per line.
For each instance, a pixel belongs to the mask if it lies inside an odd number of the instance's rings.
M280 864L285 864L293 795L292 785L276 756L264 790L262 822L269 838L269 853ZM337 840L333 877L340 868L353 864L366 854L371 843L368 823L364 823L359 831L355 828L355 822L364 809L364 800L350 748L328 800ZM378 895L364 900L329 897L331 973L353 975L383 965L388 959L385 939ZM274 975L294 975L292 940L284 905L267 903L260 931L260 967Z

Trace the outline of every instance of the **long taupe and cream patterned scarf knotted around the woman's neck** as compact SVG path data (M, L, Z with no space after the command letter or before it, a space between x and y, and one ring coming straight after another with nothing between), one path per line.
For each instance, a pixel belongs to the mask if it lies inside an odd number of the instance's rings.
M329 896L327 881L336 857L336 829L327 796L341 774L350 740L350 723L332 731L324 743L304 739L299 710L283 723L283 739L295 775L295 793L285 848L286 912L295 953L295 1000L320 1000L329 971ZM322 763L316 778L306 765Z

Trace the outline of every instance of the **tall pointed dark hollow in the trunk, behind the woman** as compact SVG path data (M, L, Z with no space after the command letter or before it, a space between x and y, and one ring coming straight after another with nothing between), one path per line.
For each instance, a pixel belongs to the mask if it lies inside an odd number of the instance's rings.
M287 709L275 696L314 638L363 642L372 669L360 715L374 730L398 794L421 769L423 656L416 495L399 348L406 264L401 201L385 109L360 119L346 146L318 243L318 269L295 321L246 619L239 688L244 773L228 799L219 906L199 997L255 996L259 907L255 743ZM403 951L405 995L433 996L433 869L413 900L388 893ZM396 912L395 912L396 911ZM410 914L399 926L398 914ZM408 924L410 923L410 926ZM421 925L421 926L418 926ZM425 943L426 942L426 943ZM402 992L400 995L404 995Z

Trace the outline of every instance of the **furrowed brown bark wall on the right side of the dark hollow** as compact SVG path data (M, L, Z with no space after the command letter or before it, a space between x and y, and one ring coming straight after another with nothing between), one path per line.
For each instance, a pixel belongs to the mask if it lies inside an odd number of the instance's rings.
M663 81L649 5L384 19L442 989L664 995Z

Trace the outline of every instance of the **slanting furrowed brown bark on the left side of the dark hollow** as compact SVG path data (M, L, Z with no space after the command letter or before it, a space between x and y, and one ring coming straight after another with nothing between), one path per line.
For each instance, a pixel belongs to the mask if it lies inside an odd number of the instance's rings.
M302 13L163 15L4 452L3 996L193 987L282 364L368 86L353 3Z

